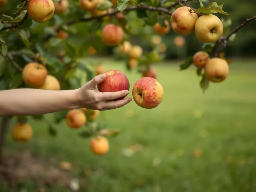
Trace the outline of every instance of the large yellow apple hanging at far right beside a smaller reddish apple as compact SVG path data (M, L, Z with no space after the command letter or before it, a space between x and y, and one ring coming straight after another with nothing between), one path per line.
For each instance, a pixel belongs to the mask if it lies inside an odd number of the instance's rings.
M205 77L212 82L224 81L229 73L229 66L225 59L214 57L205 65Z

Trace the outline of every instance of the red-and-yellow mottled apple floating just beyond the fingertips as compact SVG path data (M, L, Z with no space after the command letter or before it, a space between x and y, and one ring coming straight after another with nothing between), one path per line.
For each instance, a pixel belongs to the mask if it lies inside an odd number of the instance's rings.
M156 79L143 77L133 85L132 96L140 107L153 109L162 102L164 89Z

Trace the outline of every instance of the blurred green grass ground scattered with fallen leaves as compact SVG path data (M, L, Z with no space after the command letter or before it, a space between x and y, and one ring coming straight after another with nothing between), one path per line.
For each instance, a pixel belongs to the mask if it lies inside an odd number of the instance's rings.
M121 62L101 61L107 70L125 72L131 96L140 74L126 71ZM17 144L9 130L5 150L17 154L32 150L56 167L60 161L69 161L72 177L83 177L83 186L90 192L253 191L255 60L234 60L228 78L211 83L204 94L195 67L179 72L180 63L154 65L164 88L164 99L157 108L143 109L132 101L123 108L100 112L98 121L106 122L109 129L121 130L118 137L109 138L110 150L103 156L93 154L91 139L78 137L79 131L68 128L65 121L57 127L55 139L47 133L46 123L33 119L29 119L34 128L31 140ZM47 120L51 120L51 114ZM131 155L127 149L135 144L139 145L133 149L138 151ZM28 178L22 187L35 191L38 186L32 183ZM4 183L0 186L2 191ZM81 191L85 191L83 186ZM61 184L46 191L56 189L69 191Z

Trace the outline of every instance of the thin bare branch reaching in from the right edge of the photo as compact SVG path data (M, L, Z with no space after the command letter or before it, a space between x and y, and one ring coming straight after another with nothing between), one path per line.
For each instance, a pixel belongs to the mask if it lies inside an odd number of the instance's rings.
M231 37L231 35L235 34L238 32L239 29L241 29L245 24L249 23L250 21L256 20L256 15L246 19L243 23L241 23L241 25L239 25L237 28L235 28L233 31L231 31L228 35L224 36L224 37L220 37L218 41L216 41L215 43L215 57L218 57L219 55L219 49L220 46L223 44L224 47L226 47L227 44L227 40Z

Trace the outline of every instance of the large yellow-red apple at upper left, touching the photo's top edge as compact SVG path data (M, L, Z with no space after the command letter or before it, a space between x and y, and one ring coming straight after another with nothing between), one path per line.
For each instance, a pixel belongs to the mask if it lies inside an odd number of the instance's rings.
M49 21L55 11L52 0L30 0L27 5L27 13L32 20L43 23Z

